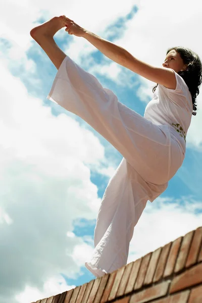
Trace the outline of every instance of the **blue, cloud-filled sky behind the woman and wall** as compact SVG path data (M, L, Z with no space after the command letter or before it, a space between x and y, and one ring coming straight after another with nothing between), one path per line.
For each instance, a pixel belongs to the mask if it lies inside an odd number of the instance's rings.
M84 267L118 151L76 115L47 100L56 68L30 37L65 14L134 57L162 66L167 48L202 58L202 3L196 0L7 0L0 5L0 303L30 303L95 277ZM56 41L120 102L143 116L155 83L106 58L82 37ZM167 190L147 202L128 263L202 226L202 94L185 160Z

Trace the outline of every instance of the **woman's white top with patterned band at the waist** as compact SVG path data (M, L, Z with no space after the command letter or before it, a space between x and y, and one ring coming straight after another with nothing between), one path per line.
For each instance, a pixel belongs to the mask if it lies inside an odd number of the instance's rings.
M156 125L169 125L171 133L179 141L184 154L186 134L192 117L192 98L188 86L173 70L177 85L175 89L158 85L154 98L147 104L144 117Z

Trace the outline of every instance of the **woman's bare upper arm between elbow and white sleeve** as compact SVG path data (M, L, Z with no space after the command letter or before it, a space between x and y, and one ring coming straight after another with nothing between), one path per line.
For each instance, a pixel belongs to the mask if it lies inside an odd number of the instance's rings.
M172 69L166 67L156 67L136 59L132 55L123 59L122 66L134 73L155 83L164 85L167 88L175 89L177 81Z

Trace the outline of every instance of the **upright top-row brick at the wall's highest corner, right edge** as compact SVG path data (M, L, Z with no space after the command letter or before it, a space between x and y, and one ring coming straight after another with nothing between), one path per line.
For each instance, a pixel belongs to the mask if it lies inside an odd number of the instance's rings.
M197 256L202 240L202 227L199 227L194 232L193 241L186 261L186 267L196 264Z

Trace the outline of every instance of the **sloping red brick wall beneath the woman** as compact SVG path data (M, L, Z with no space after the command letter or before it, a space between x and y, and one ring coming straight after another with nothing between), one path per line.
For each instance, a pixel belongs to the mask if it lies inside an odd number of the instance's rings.
M202 303L202 227L102 278L36 303Z

